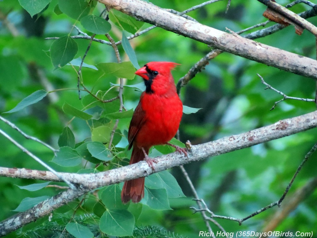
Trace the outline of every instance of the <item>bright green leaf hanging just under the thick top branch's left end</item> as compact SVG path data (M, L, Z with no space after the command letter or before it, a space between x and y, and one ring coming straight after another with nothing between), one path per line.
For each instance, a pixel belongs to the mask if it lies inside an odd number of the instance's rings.
M137 32L144 24L144 22L138 21L134 17L130 17L114 9L109 11L109 18L114 24L132 34Z

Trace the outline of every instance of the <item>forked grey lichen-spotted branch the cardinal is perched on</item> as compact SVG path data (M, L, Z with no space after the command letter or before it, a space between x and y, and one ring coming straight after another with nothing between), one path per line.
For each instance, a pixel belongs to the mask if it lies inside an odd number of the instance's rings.
M171 153L157 157L158 163L155 164L155 172L160 172L172 167L203 160L216 155L228 153L237 149L247 148L260 143L268 142L285 136L290 136L301 131L317 127L317 111L297 116L285 120L280 120L269 126L254 129L239 135L226 136L217 141L207 142L200 145L192 145L189 157L179 153ZM95 188L120 183L139 177L153 174L146 161L141 161L132 165L112 169L98 174L72 174L58 173L63 178L75 184L80 184L77 190L68 189L53 198L47 199L35 207L12 216L0 223L0 235L6 235L39 217L48 215L55 208L61 207L74 198L87 193ZM61 181L48 171L29 171L26 169L0 168L0 175L8 177L33 178Z

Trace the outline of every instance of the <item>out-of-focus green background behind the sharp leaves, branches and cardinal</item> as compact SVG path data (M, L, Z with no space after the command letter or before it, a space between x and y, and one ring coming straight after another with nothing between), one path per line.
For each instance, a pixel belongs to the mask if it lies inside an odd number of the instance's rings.
M152 0L153 4L165 9L182 11L202 3L197 0ZM285 5L290 1L278 1ZM55 14L53 10L57 0L52 0L48 9L40 16L30 17L17 0L0 1L0 112L6 112L16 106L23 98L36 90L76 89L76 72L70 65L54 70L48 56L53 40L45 37L60 37L70 33L78 35L72 29L75 20L65 14ZM257 23L265 22L262 13L266 9L262 3L254 0L233 0L227 13L227 1L212 3L188 13L202 24L226 31L243 30ZM99 15L104 7L98 3L94 14ZM303 3L291 8L295 13L309 10ZM317 18L309 19L314 25ZM268 23L265 27L274 25ZM76 23L88 35L79 22ZM145 23L141 29L150 24ZM260 27L263 29L263 27ZM251 30L256 31L258 28ZM243 35L250 33L247 31ZM113 25L109 33L115 41L121 39L121 31ZM96 38L107 40L103 35ZM89 40L75 39L79 50L75 58L83 57ZM272 35L256 39L257 42L268 44L302 56L316 58L315 39L304 30L301 36L295 34L293 26L289 26ZM188 70L212 49L203 43L190 38L176 35L166 30L155 28L146 34L130 41L139 65L150 61L171 61L181 65L174 70L175 83ZM119 45L123 61L128 58L122 46ZM85 59L85 63L96 65L100 62L116 62L111 46L93 42ZM114 76L103 76L100 70L82 69L85 86L94 91L106 91L110 83L118 83ZM211 60L202 72L198 73L186 86L181 89L180 97L184 105L201 108L197 113L184 114L179 129L179 139L182 142L190 140L192 144L201 144L247 132L262 126L277 122L281 119L300 116L314 111L313 102L286 100L270 110L281 95L272 90L264 90L260 74L272 87L288 96L314 98L315 82L313 79L294 75L279 69L256 63L229 53L222 53ZM127 80L125 84L141 83L140 77ZM125 87L126 109L135 108L140 92ZM83 94L84 96L85 94ZM2 114L6 119L15 123L19 128L35 136L55 148L58 148L58 138L65 126L69 126L76 142L81 142L91 136L91 130L86 121L74 119L65 114L61 107L67 102L81 109L81 101L76 90L61 90L50 93L40 102L12 114ZM119 129L123 132L128 128L129 120L120 120ZM0 122L0 128L29 148L33 153L47 162L57 171L78 172L82 165L75 167L60 167L51 161L53 153L37 144L28 141L15 130ZM277 201L283 194L304 156L316 143L316 129L288 136L275 141L260 144L219 155L200 162L185 165L198 196L203 198L211 211L217 215L243 218L256 210ZM126 143L125 139L121 143ZM43 169L29 156L16 148L11 142L0 136L1 154L0 166L9 168ZM257 215L241 226L237 222L219 220L217 222L227 231L314 231L317 232L317 193L315 191L317 155L314 154L297 176L287 198L281 208L274 207ZM94 165L91 165L93 168ZM200 213L193 214L189 207L197 207L192 201L193 194L188 182L180 169L175 168L171 173L177 179L186 197L170 199L173 210L152 210L143 205L142 213L136 225L157 225L175 234L188 237L198 237L199 231L207 231ZM313 182L312 182L313 181ZM55 195L58 190L45 188L38 192L19 189L34 181L17 178L0 178L0 220L15 214L14 210L25 197L40 195ZM300 196L301 195L301 196ZM59 208L65 212L74 204ZM87 205L88 207L89 205ZM66 208L65 208L66 207ZM288 211L282 210L289 208ZM89 210L89 208L87 208ZM280 219L275 215L281 213ZM44 219L44 218L42 218ZM41 219L40 219L41 221ZM38 222L40 222L38 221ZM211 228L218 228L210 223ZM30 226L35 226L34 224ZM9 236L8 236L9 237ZM15 237L11 234L10 237Z

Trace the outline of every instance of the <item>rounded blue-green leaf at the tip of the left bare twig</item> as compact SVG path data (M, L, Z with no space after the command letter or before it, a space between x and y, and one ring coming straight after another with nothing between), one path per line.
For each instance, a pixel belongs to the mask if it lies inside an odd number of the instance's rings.
M81 156L76 152L76 150L64 146L53 157L52 162L61 165L63 167L76 166L81 163Z

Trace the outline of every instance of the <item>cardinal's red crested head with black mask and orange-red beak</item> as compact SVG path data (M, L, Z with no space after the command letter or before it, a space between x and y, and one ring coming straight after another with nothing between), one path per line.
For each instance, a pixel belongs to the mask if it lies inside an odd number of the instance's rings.
M143 78L146 93L165 94L170 90L176 90L171 70L177 65L179 64L172 62L149 62L135 74Z

